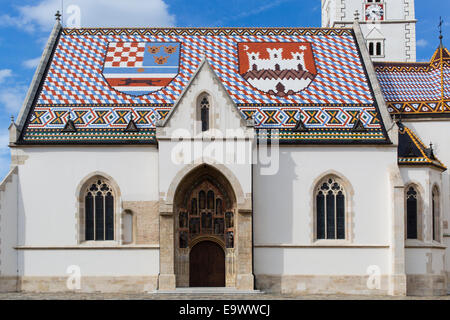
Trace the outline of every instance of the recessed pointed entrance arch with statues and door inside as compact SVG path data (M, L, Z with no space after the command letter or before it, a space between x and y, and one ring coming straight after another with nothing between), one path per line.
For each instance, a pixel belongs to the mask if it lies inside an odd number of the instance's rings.
M179 184L174 201L178 287L236 285L236 196L217 169L201 165Z

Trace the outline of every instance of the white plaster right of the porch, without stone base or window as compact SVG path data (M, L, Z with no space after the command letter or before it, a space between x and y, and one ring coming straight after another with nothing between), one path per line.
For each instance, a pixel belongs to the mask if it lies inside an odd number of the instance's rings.
M276 175L255 166L255 274L365 274L370 265L389 273L389 168L396 161L392 147L296 146L280 148ZM313 239L313 188L330 170L354 190L353 237L317 248L327 243Z

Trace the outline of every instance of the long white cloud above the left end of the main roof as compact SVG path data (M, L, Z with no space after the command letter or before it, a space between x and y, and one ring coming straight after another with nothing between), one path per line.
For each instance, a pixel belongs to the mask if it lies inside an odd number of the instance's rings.
M67 8L71 5L80 7L82 27L165 27L175 23L175 16L169 13L165 0L66 0L66 21L70 19ZM35 5L17 9L19 15L16 17L1 16L0 25L48 31L55 23L56 11L61 10L61 1L40 0Z

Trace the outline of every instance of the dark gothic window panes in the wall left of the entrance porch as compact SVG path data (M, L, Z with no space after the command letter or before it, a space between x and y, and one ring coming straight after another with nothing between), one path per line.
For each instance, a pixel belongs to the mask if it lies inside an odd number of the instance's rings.
M114 192L97 179L85 191L85 240L114 240Z

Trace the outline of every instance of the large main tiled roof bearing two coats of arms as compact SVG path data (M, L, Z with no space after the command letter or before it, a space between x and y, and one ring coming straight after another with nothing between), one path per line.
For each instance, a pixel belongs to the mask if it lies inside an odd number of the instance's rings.
M303 67L291 70L295 58ZM263 28L63 29L20 142L154 142L156 121L204 59L257 129L291 141L387 142L351 29ZM281 67L258 69L275 60ZM123 132L131 117L139 133ZM69 119L77 131L61 132ZM291 132L299 119L308 132ZM358 120L364 132L353 130Z

